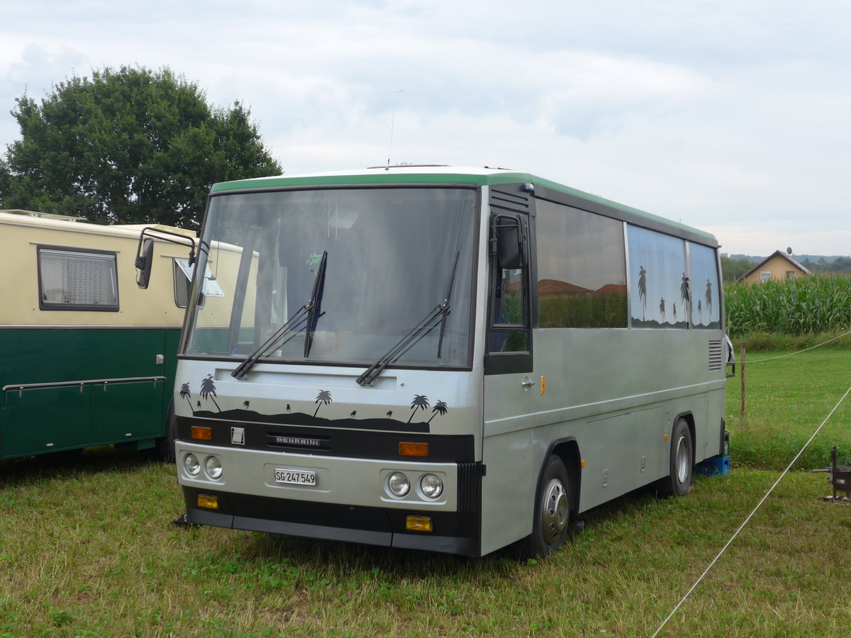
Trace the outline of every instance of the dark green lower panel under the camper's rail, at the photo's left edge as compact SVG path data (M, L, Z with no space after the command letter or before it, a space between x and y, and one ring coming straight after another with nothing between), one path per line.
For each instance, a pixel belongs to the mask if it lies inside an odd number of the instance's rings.
M89 437L91 387L7 390L3 419L3 457L55 452Z

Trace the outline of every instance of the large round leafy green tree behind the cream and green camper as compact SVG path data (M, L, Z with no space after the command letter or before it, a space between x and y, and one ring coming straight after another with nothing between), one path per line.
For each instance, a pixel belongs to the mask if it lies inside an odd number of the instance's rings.
M73 76L12 115L21 139L0 162L0 207L98 224L197 228L210 186L280 174L248 109L208 105L167 67L106 67Z

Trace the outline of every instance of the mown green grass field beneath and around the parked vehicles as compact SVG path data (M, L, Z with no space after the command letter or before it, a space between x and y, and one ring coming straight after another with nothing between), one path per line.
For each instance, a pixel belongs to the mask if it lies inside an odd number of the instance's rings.
M742 424L729 381L731 476L593 510L546 561L179 528L172 466L111 449L3 462L0 635L649 636L851 385L849 364L749 362ZM849 415L808 463L851 447ZM824 474L786 476L661 635L847 635L851 507L830 491Z

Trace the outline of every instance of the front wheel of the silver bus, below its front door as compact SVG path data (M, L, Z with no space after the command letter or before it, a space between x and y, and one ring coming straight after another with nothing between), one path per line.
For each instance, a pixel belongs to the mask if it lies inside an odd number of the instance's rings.
M546 459L535 493L532 533L517 543L517 555L528 559L545 557L564 543L570 521L570 481L562 459Z

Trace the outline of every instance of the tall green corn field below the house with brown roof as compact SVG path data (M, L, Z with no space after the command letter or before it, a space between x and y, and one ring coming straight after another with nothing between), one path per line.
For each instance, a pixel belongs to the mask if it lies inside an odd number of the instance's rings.
M808 276L724 286L727 331L803 336L851 328L851 277Z

